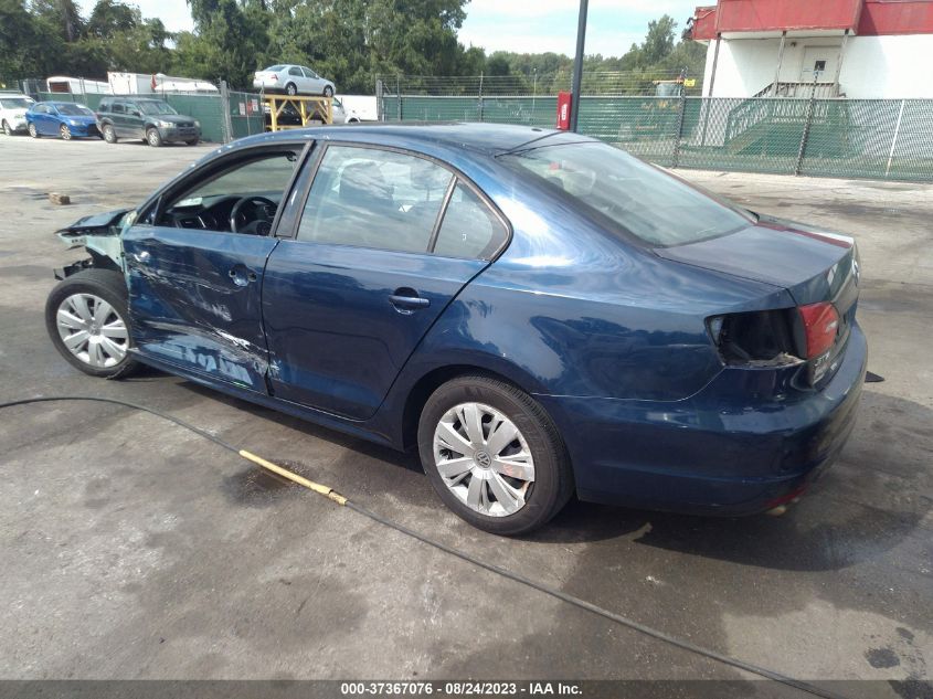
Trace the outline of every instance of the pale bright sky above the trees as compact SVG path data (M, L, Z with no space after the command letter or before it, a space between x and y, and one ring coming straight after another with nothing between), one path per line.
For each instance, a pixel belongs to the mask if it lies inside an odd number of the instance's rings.
M185 0L130 0L144 17L158 17L169 31L192 28ZM85 14L95 0L81 0ZM678 31L699 0L590 0L586 53L619 56L645 38L648 22L661 14L677 20ZM459 31L460 42L492 51L572 56L576 45L579 0L471 0Z

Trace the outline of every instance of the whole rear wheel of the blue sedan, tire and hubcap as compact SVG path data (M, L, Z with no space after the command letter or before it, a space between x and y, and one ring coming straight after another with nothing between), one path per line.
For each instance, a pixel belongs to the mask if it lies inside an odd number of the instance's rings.
M418 453L445 505L491 533L532 531L573 494L570 458L551 417L530 395L490 377L460 377L431 395Z

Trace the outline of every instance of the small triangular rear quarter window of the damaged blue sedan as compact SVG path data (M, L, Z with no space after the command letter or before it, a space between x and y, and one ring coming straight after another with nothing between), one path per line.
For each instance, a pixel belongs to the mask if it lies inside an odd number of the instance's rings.
M491 260L508 239L501 220L476 192L457 182L434 246L436 255Z

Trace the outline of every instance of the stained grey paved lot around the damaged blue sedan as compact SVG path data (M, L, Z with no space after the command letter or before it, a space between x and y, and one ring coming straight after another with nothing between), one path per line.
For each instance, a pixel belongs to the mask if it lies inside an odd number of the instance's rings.
M855 234L869 369L840 462L783 518L572 504L524 540L449 513L415 459L147 373L73 370L42 318L52 232L137 203L208 148L0 137L0 401L151 405L384 516L667 634L815 680L933 674L933 187L682 171ZM45 193L72 197L53 206ZM742 678L474 568L156 419L100 404L0 415L4 678ZM870 688L870 690L869 690Z

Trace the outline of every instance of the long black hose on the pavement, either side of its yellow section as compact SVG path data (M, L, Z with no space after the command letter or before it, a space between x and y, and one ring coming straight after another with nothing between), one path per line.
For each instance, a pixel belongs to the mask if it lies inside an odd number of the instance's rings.
M163 413L161 411L155 410L152 407L147 407L146 405L140 405L138 403L130 403L128 401L120 401L118 399L113 398L103 398L103 396L94 396L94 395L56 395L56 396L42 396L42 398L28 398L21 399L18 401L9 401L7 403L0 403L0 410L4 407L13 407L14 405L29 405L30 403L50 403L55 401L94 401L98 403L113 403L114 405L123 405L125 407L131 407L134 410L142 411L144 413L149 413L150 415L156 415L157 417L161 417L163 420L168 420L169 422L178 425L179 427L184 427L185 430L190 430L197 435L200 435L206 439L210 439L214 444L222 446L223 448L233 452L237 456L240 456L240 449L224 442L220 437L215 437L209 432L201 430L200 427L195 427L194 425L184 422L183 420L176 417L174 415L170 415L168 413ZM391 519L382 517L381 515L377 515L370 509L361 505L357 505L351 500L347 500L346 507L350 508L354 512L362 515L371 519L374 522L383 525L384 527L389 527L390 529L394 529L406 537L411 537L412 539L416 539L422 543L426 543L430 547L434 547L438 551L443 551L445 553L449 553L463 561L468 563L473 563L474 565L487 570L491 573L497 575L501 575L502 578L507 578L513 582L520 583L522 585L527 585L537 590L539 592L543 592L547 595L561 600L562 602L566 602L568 604L572 604L575 607L581 610L585 610L598 616L602 616L605 619L619 624L621 626L625 626L633 631L636 631L640 634L646 636L650 636L657 640L661 640L667 643L671 646L680 648L682 650L687 650L688 653L692 653L695 655L702 656L704 658L709 658L711 660L717 660L724 665L729 665L731 667L738 668L740 670L744 670L745 672L751 672L752 675L757 675L759 677L764 677L765 679L771 679L776 682L781 682L782 685L787 685L788 687L793 687L795 689L799 689L801 691L805 691L807 693L814 695L816 697L825 697L826 699L842 699L841 695L836 692L821 689L816 685L812 685L809 682L805 682L803 680L794 679L793 677L788 677L787 675L782 675L775 670L770 670L765 667L761 667L759 665L754 665L752 663L745 663L744 660L740 660L738 658L733 658L728 655L723 655L721 653L717 653L715 650L710 650L708 648L703 648L702 646L698 646L697 644L692 644L689 640L682 640L681 638L677 638L676 636L670 636L661 631L657 631L656 628L651 628L650 626L645 626L644 624L639 624L636 621L633 621L626 616L622 616L621 614L616 614L615 612L609 612L608 610L604 610L601 606L596 606L591 602L586 602L585 600L581 600L572 594L568 594L562 590L558 590L556 587L551 587L550 585L545 585L544 583L538 582L530 578L526 578L519 573L513 573L512 571L506 570L505 568L499 568L495 563L488 563L483 559L478 559L469 553L465 553L458 549L447 546L446 543L442 543L436 539L432 539L422 534L414 529L409 529L404 525L400 525Z

